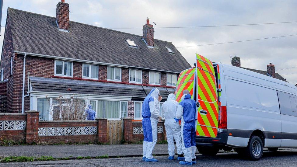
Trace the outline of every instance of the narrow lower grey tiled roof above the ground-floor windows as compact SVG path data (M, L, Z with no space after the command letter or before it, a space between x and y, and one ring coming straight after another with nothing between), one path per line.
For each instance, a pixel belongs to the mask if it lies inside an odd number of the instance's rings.
M32 91L78 93L93 95L131 96L145 98L154 87L138 85L125 85L116 83L77 81L71 79L30 77ZM169 93L174 93L173 88L158 87L163 99L167 99Z

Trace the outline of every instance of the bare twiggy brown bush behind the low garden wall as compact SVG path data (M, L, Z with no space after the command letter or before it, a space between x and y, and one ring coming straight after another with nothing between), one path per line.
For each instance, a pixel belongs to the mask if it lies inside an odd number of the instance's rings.
M53 99L50 110L53 120L86 120L86 99L72 96L66 99L59 96Z

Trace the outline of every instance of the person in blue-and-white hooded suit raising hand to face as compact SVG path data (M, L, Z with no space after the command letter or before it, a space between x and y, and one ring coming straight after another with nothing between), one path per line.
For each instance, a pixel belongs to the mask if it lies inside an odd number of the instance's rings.
M158 162L153 158L152 151L157 142L157 124L158 120L162 120L159 116L160 101L162 96L159 95L159 90L154 88L145 97L142 103L142 128L143 128L143 157L145 162Z

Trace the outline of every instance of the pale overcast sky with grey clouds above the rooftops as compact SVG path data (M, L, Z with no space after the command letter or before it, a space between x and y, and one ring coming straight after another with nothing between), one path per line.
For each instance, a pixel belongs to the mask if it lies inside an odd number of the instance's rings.
M7 7L56 16L59 0L4 0L1 49ZM142 27L149 17L156 27L209 26L297 21L297 1L177 1L177 0L65 0L70 7L70 20L105 28ZM116 29L142 35L142 29ZM297 23L256 26L155 29L154 37L172 42L176 47L232 42L297 34ZM237 55L241 66L265 70L272 62L275 69L297 66L297 36L178 48L192 65L195 53L211 61L231 64ZM276 71L288 82L297 82L297 68ZM285 74L291 75L285 75Z

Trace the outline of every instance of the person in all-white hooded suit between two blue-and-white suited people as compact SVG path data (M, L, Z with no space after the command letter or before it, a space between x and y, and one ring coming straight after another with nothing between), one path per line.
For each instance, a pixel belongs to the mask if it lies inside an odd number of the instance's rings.
M176 116L176 110L177 110L178 102L175 100L175 95L173 93L170 93L168 95L167 101L163 103L162 109L161 109L161 116L165 117L165 129L166 129L166 138L168 143L168 154L169 160L174 160L174 150L175 145L173 138L176 142L176 150L177 150L177 160L185 160L183 156L183 148L182 148L182 142L181 142L181 130L180 130L180 124L174 120Z

